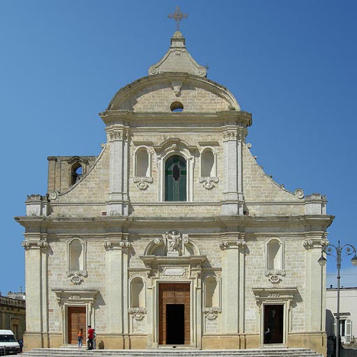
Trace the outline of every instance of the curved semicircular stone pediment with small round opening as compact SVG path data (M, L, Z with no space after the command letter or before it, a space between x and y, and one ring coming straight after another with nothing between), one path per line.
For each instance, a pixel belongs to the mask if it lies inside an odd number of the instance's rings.
M240 111L228 89L210 79L189 73L162 73L138 79L120 89L108 110L128 112Z

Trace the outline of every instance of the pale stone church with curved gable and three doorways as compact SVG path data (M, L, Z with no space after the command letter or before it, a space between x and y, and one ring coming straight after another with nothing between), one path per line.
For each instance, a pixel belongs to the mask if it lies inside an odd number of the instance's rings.
M25 346L309 347L326 353L326 197L289 192L245 142L252 116L176 31L100 113L98 156L50 156L25 229Z

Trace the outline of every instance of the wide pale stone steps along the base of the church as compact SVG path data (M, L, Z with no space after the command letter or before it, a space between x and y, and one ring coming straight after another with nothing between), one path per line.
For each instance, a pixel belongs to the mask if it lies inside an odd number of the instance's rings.
M32 349L26 351L26 357L322 357L310 349L293 348L262 348L262 349L225 349L225 350L200 350L200 349L95 349L87 351L85 348L78 351L75 345L61 347L59 349Z

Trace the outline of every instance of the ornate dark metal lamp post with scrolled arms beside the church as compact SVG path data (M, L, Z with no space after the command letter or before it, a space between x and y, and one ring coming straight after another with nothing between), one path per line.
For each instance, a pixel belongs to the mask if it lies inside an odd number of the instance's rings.
M338 241L338 245L328 244L325 245L321 249L321 257L318 260L320 266L326 265L326 258L324 257L324 253L326 255L332 255L336 259L337 263L337 312L336 312L336 357L340 357L340 269L341 269L341 261L342 261L342 253L347 255L353 255L354 257L351 259L351 263L356 266L357 265L357 255L356 248L351 244L340 245L340 241ZM334 254L335 253L335 254Z

